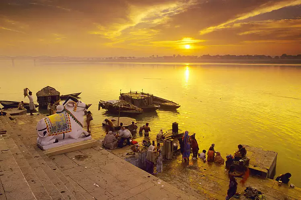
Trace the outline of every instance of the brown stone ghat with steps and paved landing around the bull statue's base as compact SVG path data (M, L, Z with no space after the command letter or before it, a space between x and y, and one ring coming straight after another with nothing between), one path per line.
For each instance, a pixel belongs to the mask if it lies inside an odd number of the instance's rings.
M36 144L43 117L0 116L0 200L197 199L100 146L47 156Z

